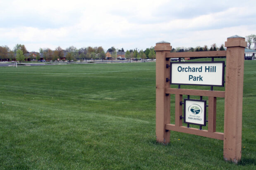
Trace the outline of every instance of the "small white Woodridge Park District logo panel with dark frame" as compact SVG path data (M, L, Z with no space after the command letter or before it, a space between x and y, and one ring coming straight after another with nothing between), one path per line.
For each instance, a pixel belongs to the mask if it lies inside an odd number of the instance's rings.
M184 99L184 123L206 126L206 100Z

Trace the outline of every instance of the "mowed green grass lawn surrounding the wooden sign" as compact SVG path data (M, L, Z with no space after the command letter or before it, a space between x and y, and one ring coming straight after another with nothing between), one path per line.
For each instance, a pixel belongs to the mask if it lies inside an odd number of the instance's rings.
M223 161L221 140L156 142L155 80L155 63L0 67L0 169L255 169L256 61L245 61L238 165ZM220 132L223 114L218 98Z

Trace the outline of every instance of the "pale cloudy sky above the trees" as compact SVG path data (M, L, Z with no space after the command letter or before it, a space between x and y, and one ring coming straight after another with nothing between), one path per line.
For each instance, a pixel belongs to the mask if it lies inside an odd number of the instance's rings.
M256 34L256 0L0 0L0 46L197 47Z

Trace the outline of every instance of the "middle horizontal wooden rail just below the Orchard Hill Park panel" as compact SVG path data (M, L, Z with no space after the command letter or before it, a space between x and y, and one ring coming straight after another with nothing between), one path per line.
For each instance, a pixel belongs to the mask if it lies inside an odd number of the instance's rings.
M184 89L184 88L165 88L165 93L225 98L225 91L194 90L194 89Z

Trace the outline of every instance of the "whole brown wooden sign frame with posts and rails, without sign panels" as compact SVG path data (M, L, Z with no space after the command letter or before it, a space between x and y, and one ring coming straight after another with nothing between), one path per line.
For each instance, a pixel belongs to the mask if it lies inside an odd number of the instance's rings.
M169 42L158 42L156 51L156 140L170 142L170 130L223 140L225 161L238 163L242 151L242 100L244 79L244 37L228 37L227 51L171 53ZM170 88L170 58L226 56L225 91ZM175 124L170 123L170 95L175 94ZM182 126L183 95L208 97L208 130ZM216 98L225 98L224 133L216 132Z

